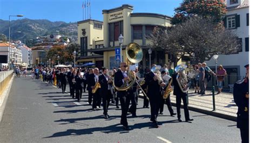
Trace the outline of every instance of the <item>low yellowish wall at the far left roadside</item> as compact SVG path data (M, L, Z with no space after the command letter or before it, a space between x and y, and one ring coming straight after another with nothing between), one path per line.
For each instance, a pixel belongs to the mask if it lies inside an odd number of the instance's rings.
M12 73L14 73L13 70L0 72L0 96L3 94L6 85L8 85L9 81L11 80Z

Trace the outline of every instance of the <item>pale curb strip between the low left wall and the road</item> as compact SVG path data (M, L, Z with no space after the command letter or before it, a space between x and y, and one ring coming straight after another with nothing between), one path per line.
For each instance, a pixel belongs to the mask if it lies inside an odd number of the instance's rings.
M5 105L7 102L7 99L9 97L9 93L11 90L11 86L12 86L12 82L14 81L14 75L12 75L10 82L8 83L9 85L6 87L6 89L3 92L2 97L0 98L0 123L2 121L2 117L4 114L4 109L5 109Z

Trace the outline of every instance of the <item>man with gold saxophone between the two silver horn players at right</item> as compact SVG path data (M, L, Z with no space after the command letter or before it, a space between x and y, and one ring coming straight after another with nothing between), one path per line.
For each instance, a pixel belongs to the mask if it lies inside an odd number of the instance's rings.
M171 96L169 95L169 97L167 97L167 99L164 99L164 98L163 98L164 92L165 92L165 90L166 90L166 88L167 88L169 82L171 82L172 77L171 77L170 75L167 75L167 73L166 73L165 70L161 71L161 75L162 75L162 78L163 78L163 80L164 80L164 82L165 82L166 85L165 85L165 87L164 87L163 92L161 92L161 97L162 97L162 99L161 99L161 104L160 104L160 114L161 114L161 115L163 114L163 112L164 112L164 103L166 102L166 105L167 105L167 107L168 107L168 110L169 110L169 112L170 112L170 115L171 115L171 116L174 116L174 115L176 115L176 113L174 113L174 111L173 111L173 109L172 109Z

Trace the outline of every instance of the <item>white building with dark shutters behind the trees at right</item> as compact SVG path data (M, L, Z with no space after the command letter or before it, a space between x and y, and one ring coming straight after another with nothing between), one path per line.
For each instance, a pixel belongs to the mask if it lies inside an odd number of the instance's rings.
M217 66L224 66L228 74L228 83L232 84L232 82L245 76L246 69L244 66L249 63L249 1L226 0L226 4L228 12L224 19L225 27L237 33L242 49L237 54L219 55ZM207 66L215 69L213 59L206 61L206 63Z

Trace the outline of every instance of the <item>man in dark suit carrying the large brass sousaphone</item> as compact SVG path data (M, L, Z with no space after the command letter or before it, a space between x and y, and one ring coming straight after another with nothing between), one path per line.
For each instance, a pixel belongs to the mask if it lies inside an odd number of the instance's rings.
M125 62L120 63L120 70L114 74L114 84L116 87L121 87L125 82L129 81L127 76L127 65ZM117 96L120 99L122 115L120 123L123 125L124 130L131 130L127 123L127 112L129 108L130 99L127 91L117 91Z

